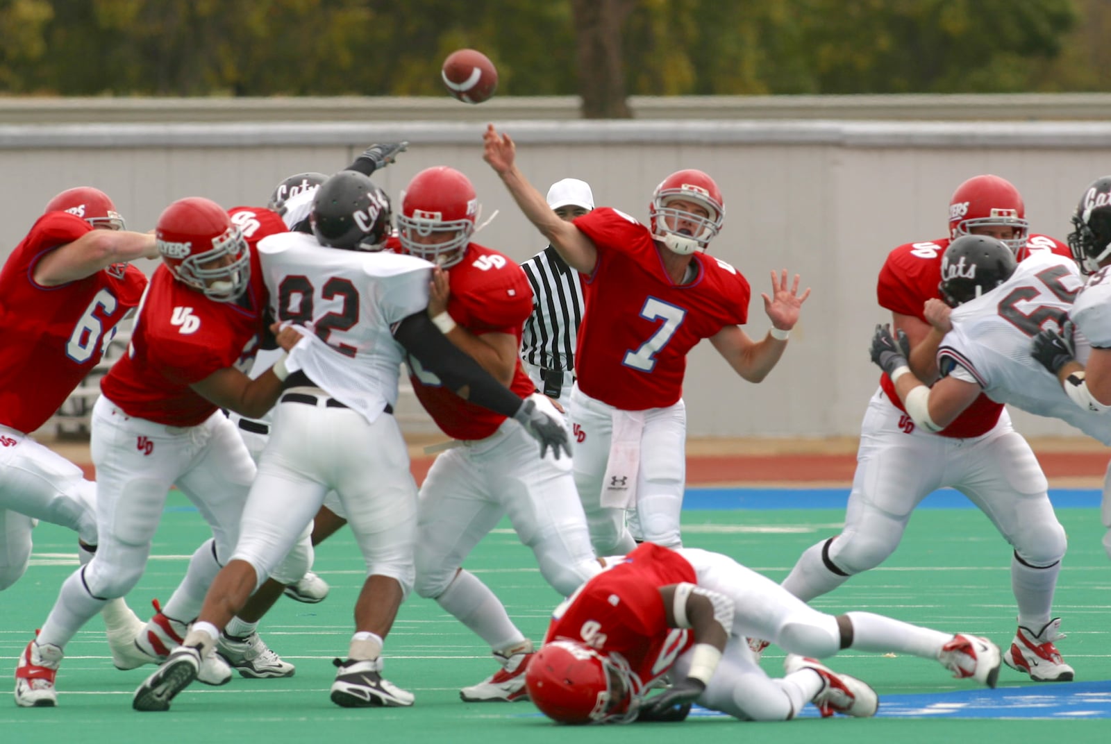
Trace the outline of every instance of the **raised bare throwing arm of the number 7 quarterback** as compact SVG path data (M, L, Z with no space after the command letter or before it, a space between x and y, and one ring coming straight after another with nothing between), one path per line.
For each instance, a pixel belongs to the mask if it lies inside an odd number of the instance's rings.
M598 247L574 224L561 220L548 207L543 195L524 178L524 173L517 167L517 145L509 134L499 134L493 124L490 124L482 135L482 159L501 177L502 183L529 222L548 239L569 267L584 274L592 273L598 263Z

